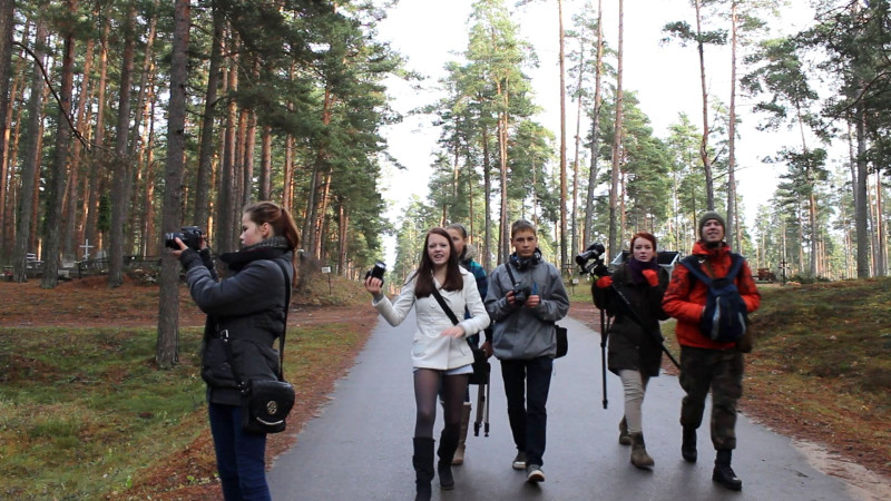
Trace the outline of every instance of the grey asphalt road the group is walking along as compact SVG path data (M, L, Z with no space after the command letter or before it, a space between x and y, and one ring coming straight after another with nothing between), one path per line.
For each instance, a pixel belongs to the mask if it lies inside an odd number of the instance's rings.
M369 306L370 307L370 306ZM733 466L741 492L712 482L714 453L708 418L699 429L699 461L681 458L678 415L683 391L674 376L653 379L644 402L644 435L655 459L652 471L629 463L630 448L617 443L623 414L621 386L608 374L608 409L603 409L599 334L566 318L569 354L555 362L548 399L547 480L532 485L511 469L516 453L498 361L492 362L490 433L473 436L474 409L466 462L453 466L456 489L441 500L851 500L846 484L807 464L790 439L737 422ZM379 317L365 350L340 381L320 416L297 435L296 445L268 472L275 500L411 500L414 395L411 376L413 315L399 327ZM711 405L711 404L709 404ZM441 409L439 410L441 411ZM707 409L706 409L706 412ZM442 429L438 415L434 434Z

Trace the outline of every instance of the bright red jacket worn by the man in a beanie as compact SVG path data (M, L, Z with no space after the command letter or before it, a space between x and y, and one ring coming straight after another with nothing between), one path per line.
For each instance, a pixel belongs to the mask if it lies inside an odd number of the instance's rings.
M713 277L722 277L727 274L731 267L731 247L723 244L716 248L707 248L702 242L693 246L693 255L705 258L708 264L703 264L703 272ZM711 269L709 269L711 265ZM714 271L714 275L713 272ZM692 287L691 287L692 285ZM746 311L754 312L761 306L761 293L752 279L752 271L748 263L744 262L742 269L736 275L736 287L743 296ZM705 284L691 276L689 269L682 264L675 266L672 273L672 281L668 289L665 291L662 306L669 316L677 318L675 335L678 344L683 346L694 346L711 350L727 350L736 345L735 342L721 343L712 341L699 331L699 321L705 310L706 294L708 289Z

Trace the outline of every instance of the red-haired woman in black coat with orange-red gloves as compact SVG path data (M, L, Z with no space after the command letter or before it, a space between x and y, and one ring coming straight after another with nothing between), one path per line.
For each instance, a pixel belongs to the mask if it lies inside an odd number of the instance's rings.
M614 316L609 328L609 371L621 379L625 416L619 423L619 443L631 445L631 464L654 464L644 444L644 392L650 377L659 375L662 296L668 273L657 264L656 237L640 232L631 237L630 256L613 276L597 279L591 287L594 303Z

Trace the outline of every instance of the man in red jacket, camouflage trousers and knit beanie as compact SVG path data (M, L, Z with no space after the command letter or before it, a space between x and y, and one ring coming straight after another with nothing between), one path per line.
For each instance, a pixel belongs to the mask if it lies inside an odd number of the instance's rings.
M693 246L699 267L708 276L719 278L731 268L731 247L724 242L724 218L709 210L699 218L699 240ZM736 287L746 311L761 305L761 293L752 279L747 263L736 275ZM681 454L696 462L696 430L703 421L705 397L712 391L712 444L717 451L712 480L727 489L743 488L731 468L736 449L736 402L743 394L743 354L735 342L713 341L699 327L708 288L687 269L675 266L663 298L665 313L677 318L675 333L681 345L681 386L687 393L681 405L684 439Z

